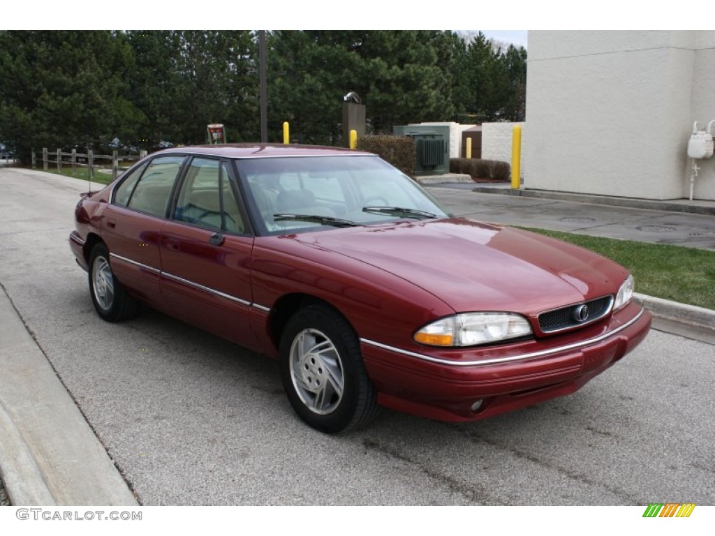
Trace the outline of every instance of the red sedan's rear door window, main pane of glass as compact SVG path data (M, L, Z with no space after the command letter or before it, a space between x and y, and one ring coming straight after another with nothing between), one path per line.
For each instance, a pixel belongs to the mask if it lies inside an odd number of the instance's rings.
M149 162L127 206L163 218L182 162L184 157L157 157Z

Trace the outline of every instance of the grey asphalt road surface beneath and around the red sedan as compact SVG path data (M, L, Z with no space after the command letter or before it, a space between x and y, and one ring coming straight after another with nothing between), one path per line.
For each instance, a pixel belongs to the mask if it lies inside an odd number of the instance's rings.
M0 284L145 505L715 505L712 345L652 331L569 397L322 435L275 362L151 310L97 317L66 240L86 189L0 169Z

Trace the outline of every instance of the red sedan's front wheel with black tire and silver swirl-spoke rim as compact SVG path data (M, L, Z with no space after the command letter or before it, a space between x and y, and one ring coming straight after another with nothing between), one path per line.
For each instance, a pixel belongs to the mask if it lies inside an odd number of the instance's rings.
M358 337L334 309L310 305L291 317L281 337L280 369L293 409L321 432L364 426L378 410Z

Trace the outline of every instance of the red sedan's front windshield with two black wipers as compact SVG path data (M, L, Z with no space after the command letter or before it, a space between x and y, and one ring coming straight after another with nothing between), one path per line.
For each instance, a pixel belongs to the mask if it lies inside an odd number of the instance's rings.
M451 216L378 157L243 159L237 165L265 234Z

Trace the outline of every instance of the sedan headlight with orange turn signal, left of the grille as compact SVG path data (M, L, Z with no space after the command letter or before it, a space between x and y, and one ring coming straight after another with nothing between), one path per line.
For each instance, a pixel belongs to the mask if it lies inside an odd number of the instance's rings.
M415 341L431 346L473 346L531 334L531 325L520 314L462 313L427 324L415 333Z

